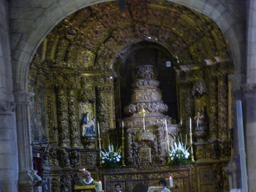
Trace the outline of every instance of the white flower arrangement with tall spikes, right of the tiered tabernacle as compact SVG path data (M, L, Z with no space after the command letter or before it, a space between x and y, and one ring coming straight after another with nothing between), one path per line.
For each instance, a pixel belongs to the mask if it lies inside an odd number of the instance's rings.
M170 162L169 164L178 164L178 165L188 165L190 164L190 153L189 153L189 147L186 147L187 144L187 135L186 135L186 143L182 143L182 136L181 136L181 142L178 137L178 142L174 142L174 145L171 146L171 149L169 150L169 157Z

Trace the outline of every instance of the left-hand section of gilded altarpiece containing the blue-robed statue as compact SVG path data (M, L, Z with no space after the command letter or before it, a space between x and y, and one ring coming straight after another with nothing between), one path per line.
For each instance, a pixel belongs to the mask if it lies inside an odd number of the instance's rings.
M98 131L102 143L108 143L115 126L112 77L106 72L71 72L63 62L46 63L38 57L31 63L29 91L35 93L35 107L30 111L37 117L31 127L38 126L32 129L32 148L42 160L44 191L63 186L74 190L84 167L98 180Z

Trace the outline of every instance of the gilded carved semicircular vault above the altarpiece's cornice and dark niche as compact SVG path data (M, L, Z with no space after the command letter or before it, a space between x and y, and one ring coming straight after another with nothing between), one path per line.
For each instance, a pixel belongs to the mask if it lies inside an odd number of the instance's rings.
M50 67L82 70L115 69L118 58L143 46L178 57L177 65L231 54L212 19L159 0L127 0L124 11L118 1L83 8L63 19L46 39Z

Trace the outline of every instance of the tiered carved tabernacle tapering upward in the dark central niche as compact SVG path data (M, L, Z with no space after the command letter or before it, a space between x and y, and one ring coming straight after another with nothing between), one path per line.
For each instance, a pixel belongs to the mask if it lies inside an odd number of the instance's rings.
M178 133L177 125L164 115L168 106L163 103L157 76L152 65L138 66L132 71L132 101L125 107L130 117L124 119L128 165L166 163L169 143Z

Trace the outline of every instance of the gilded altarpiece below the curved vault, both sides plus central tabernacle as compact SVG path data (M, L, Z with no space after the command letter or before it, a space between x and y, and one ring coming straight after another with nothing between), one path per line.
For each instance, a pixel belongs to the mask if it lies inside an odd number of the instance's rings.
M65 186L72 191L82 178L79 170L86 167L94 179L103 181L109 192L114 191L116 182L121 182L124 191L131 192L139 183L158 186L160 177L170 176L174 178L172 192L228 190L223 168L232 151L229 60L208 60L202 65L175 68L183 122L179 124L164 115L168 107L162 101L154 67L143 65L134 69L132 102L125 108L128 117L124 118L123 127L125 166L111 170L103 169L98 161L98 128L102 145L107 145L113 135L121 134L121 123L114 130L115 105L120 99L115 97L118 85L114 85L114 75L100 71L71 72L66 66L59 69L62 65L46 65L35 58L30 67L30 90L33 92L37 85L42 87L37 90L43 91L45 108L47 142L42 147L33 145L42 159L43 187L58 191ZM36 96L40 94L36 92ZM39 108L40 103L36 106ZM40 112L37 111L38 117L42 117ZM188 166L168 166L167 143L172 145L179 133L189 135L190 118L195 161ZM82 129L83 119L92 120L88 126L91 133L86 133L87 127ZM40 132L42 120L38 121Z

